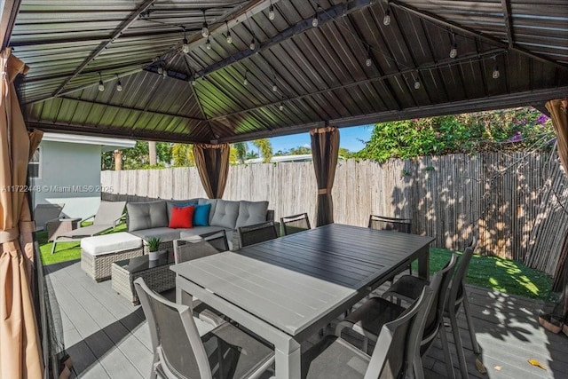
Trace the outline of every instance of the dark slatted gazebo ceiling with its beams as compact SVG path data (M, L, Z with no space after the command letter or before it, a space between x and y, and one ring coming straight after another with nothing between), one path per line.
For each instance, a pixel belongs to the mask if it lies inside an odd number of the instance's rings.
M43 130L233 142L568 96L566 0L7 3L4 46L30 67L21 102Z

